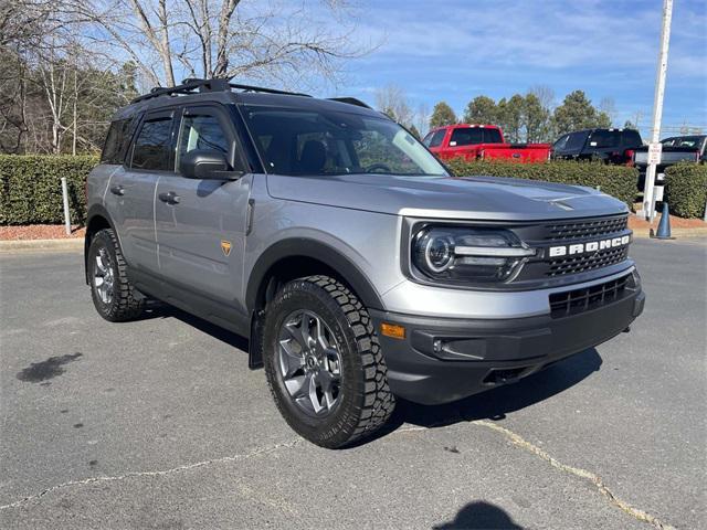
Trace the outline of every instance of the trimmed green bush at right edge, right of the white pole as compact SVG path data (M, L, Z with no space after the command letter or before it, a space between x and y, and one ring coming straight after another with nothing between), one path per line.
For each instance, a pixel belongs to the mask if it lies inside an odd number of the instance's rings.
M707 202L707 166L678 163L665 171L665 197L671 213L680 218L701 218Z

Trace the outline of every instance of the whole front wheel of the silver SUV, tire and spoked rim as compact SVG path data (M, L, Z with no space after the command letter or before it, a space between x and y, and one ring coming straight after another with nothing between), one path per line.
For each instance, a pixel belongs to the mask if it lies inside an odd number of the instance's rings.
M289 426L336 448L382 426L395 406L368 311L341 283L309 276L286 284L267 307L264 363Z

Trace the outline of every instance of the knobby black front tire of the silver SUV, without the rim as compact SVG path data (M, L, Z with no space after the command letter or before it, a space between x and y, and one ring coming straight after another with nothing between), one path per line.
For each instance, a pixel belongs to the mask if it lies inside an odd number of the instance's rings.
M293 310L316 311L334 333L341 353L340 402L327 417L305 414L291 398L278 368L278 333ZM289 426L321 447L338 448L371 435L390 417L395 398L366 307L346 286L328 276L286 284L266 308L263 361L273 399Z

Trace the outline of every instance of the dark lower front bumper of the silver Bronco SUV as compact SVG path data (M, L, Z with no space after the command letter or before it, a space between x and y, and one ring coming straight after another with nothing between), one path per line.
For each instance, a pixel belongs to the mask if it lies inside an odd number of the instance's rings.
M371 310L382 322L404 326L405 338L379 333L392 392L422 404L441 404L517 381L600 344L643 311L640 285L620 299L581 312L509 319L430 318Z

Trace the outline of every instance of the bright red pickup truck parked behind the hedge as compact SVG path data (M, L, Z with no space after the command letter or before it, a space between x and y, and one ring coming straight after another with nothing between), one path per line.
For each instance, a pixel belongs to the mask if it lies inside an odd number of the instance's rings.
M442 160L509 159L541 162L550 158L550 144L506 144L497 125L447 125L428 132L422 140Z

